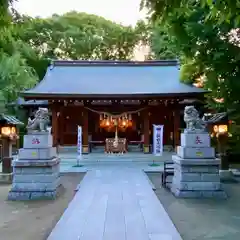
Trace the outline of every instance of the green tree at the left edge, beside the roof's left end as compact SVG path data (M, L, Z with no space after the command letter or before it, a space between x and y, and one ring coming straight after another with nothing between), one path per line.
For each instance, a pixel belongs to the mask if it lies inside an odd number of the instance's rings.
M5 102L15 100L20 91L36 82L35 72L27 64L27 58L36 54L17 38L18 28L9 9L12 2L0 2L0 95Z

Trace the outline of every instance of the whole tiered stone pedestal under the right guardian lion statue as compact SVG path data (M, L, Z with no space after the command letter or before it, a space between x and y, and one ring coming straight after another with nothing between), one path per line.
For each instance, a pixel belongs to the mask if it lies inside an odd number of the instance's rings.
M220 160L208 133L182 133L174 162L171 191L182 198L226 198L219 176Z

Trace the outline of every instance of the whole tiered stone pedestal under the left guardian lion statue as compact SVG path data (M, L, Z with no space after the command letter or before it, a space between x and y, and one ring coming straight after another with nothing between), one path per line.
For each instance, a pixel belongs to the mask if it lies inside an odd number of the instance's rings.
M9 200L55 199L60 186L60 159L48 132L24 136L24 148L13 161Z

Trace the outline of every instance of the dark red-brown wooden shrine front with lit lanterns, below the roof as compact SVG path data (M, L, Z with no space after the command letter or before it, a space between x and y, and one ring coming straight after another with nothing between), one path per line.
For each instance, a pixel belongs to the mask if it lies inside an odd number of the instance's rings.
M170 106L161 104L65 104L57 113L58 142L61 146L76 146L79 125L88 152L96 148L101 148L100 152L143 152L146 145L145 151L151 152L153 124L164 125L163 144L174 145L174 128L179 126L174 126L174 113Z

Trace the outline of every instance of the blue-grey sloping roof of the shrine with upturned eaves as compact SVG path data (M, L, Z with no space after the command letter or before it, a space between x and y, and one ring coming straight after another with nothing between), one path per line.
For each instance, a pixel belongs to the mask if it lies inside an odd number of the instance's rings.
M178 96L204 93L181 83L177 61L54 61L43 80L24 92L50 97Z

